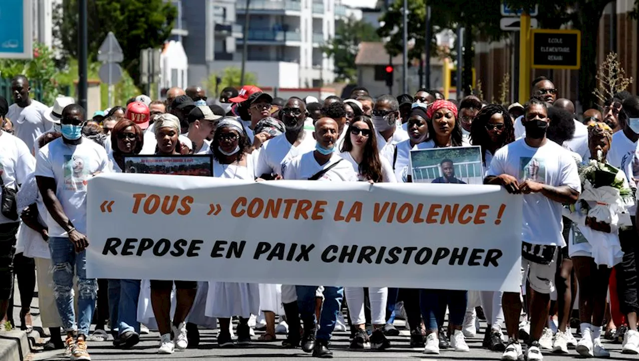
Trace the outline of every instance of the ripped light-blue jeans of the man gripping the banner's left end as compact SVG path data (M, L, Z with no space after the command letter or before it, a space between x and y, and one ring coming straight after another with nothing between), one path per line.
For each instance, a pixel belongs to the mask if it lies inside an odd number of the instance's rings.
M66 237L49 238L51 267L53 270L53 295L58 313L66 332L77 330L79 335L89 335L89 327L98 298L98 281L86 278L86 250L75 253L73 243ZM78 325L73 309L73 271L78 279Z

